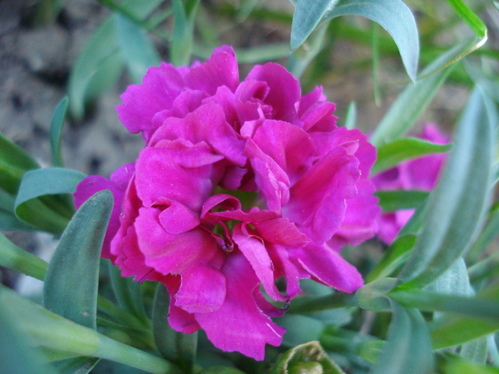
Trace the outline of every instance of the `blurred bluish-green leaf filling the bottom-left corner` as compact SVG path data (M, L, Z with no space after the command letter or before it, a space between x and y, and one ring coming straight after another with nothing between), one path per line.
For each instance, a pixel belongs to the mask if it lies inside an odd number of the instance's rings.
M29 336L21 331L19 321L8 307L0 303L0 373L55 374L43 358L30 346Z

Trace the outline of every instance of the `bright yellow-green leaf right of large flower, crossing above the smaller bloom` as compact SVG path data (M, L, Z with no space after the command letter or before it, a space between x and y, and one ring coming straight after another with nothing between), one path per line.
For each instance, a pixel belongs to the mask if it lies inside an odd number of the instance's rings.
M378 158L371 169L371 173L377 174L394 167L405 160L431 155L433 153L448 152L450 148L450 144L436 144L414 137L394 140L393 142L380 145L377 148L376 154Z

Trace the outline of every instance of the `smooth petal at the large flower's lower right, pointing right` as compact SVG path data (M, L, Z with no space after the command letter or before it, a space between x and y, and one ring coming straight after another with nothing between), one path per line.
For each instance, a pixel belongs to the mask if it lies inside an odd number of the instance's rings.
M298 261L314 279L338 291L351 293L364 284L355 266L346 262L327 244L310 243L290 252L295 261Z

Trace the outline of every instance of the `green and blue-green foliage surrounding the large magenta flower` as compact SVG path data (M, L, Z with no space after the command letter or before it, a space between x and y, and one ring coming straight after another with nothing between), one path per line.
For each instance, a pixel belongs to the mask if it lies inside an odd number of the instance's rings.
M53 115L52 167L40 167L0 135L0 229L61 238L46 264L0 234L0 266L44 280L43 305L0 288L1 372L98 373L101 359L150 373L499 372L499 257L493 243L499 231L494 196L499 54L485 43L482 21L488 11L497 14L493 1L477 1L470 9L462 0L312 5L296 0L294 14L254 0L99 2L112 14L81 51L68 99ZM43 4L41 19L53 19L64 6L63 1ZM331 75L349 79L374 66L373 102L380 93L399 90L371 128L370 141L378 149L374 173L421 155L450 152L433 192L379 192L385 211L413 208L416 214L384 254L364 250L366 244L345 250L358 259L366 282L356 294L304 281L306 291L277 319L288 329L284 344L268 348L262 363L216 350L202 333L177 333L160 313L170 302L162 285L121 278L112 265L99 261L110 194L94 195L75 213L70 194L85 175L63 167L61 155L66 112L83 118L88 102L115 85L123 68L138 82L162 58L182 66L207 57L222 41L219 20L233 28L249 20L287 29L285 43L235 46L242 63L287 58L304 87L326 85ZM469 32L456 31L457 26ZM451 42L440 43L443 36ZM368 48L372 59L360 53L352 66L335 71L330 61L341 43ZM160 57L158 44L168 46L168 56ZM389 71L385 63L397 70ZM401 81L405 87L394 89ZM448 85L469 96L462 113L451 113L459 115L453 144L406 136ZM364 130L366 124L356 123L361 110L352 103L343 123ZM110 287L99 286L99 276Z

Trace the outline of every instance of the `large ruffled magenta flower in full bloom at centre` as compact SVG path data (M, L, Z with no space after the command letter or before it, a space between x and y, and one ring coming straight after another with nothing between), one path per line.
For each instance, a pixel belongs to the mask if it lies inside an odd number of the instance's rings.
M275 63L240 83L222 46L191 68L150 68L122 99L120 120L146 145L110 181L83 180L76 204L113 191L103 256L123 276L165 284L175 330L202 328L218 348L262 360L285 331L260 285L284 303L299 279L362 286L339 250L376 233L376 152L359 130L336 126L321 88L302 96Z

